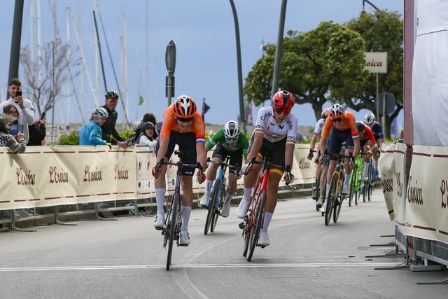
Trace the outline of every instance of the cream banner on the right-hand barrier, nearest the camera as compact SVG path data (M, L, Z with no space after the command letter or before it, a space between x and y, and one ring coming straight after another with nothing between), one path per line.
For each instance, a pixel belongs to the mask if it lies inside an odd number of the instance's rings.
M447 147L413 146L404 213L396 220L404 235L448 244L447 169Z

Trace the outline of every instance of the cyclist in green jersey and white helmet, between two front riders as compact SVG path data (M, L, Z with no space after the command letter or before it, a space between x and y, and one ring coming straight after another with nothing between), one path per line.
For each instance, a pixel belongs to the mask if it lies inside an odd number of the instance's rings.
M213 158L215 162L223 162L227 156L230 156L230 165L242 165L242 158L247 158L247 148L249 146L248 139L244 132L239 130L239 125L235 120L228 121L224 128L216 132L214 136L206 144L206 152L210 151L211 148L216 149L213 153ZM214 179L216 179L216 170L218 165L210 163L207 169L207 179L205 180L205 193L202 196L200 205L202 207L208 207L211 186L213 185ZM235 174L235 167L230 167L228 176L228 186L226 188L225 200L223 208L221 209L221 216L227 217L230 213L230 201L232 200L235 191L237 190L237 179L238 175Z

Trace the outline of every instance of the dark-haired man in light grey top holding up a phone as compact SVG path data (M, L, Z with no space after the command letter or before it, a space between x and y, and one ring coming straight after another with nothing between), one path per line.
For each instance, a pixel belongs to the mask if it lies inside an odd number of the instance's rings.
M22 82L18 78L10 79L8 82L8 92L10 98L5 102L0 103L0 111L6 105L13 105L15 109L17 109L18 123L19 125L23 125L23 133L25 134L25 141L29 140L29 131L28 126L33 125L34 123L34 108L33 104L29 99L25 99L22 97L21 90Z

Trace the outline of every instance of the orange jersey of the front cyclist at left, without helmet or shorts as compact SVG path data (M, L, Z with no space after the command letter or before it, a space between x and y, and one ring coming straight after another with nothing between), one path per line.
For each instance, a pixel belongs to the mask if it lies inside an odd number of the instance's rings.
M181 128L177 125L176 115L174 114L174 106L169 106L163 112L163 123L162 129L160 130L160 136L171 136L171 131L179 132L179 133L190 133L193 132L196 135L196 142L204 142L205 143L205 124L204 120L199 112L195 112L193 116L193 120L190 128L188 130L181 130Z

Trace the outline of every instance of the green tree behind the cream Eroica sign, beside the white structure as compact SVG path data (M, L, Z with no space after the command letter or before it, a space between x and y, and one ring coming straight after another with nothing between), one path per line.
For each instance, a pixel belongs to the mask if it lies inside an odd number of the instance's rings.
M358 32L365 41L366 52L387 52L387 74L379 74L379 91L391 92L397 99L397 106L391 116L386 115L383 128L385 137L391 137L391 122L403 108L403 21L396 12L377 11L374 14L360 13L358 19L346 23ZM377 115L376 74L369 74L363 88L347 101L351 109L370 109ZM381 116L382 111L379 111Z

